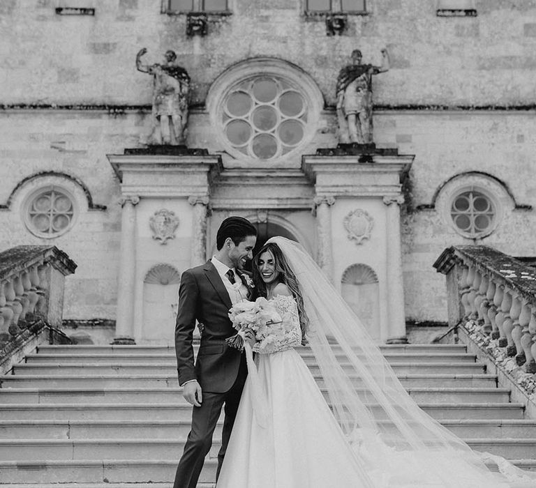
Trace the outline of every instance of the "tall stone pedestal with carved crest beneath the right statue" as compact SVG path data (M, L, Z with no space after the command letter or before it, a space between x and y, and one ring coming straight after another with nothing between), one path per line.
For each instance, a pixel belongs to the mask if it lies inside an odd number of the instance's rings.
M414 158L373 144L340 144L302 158L315 186L319 264L338 289L352 266L378 277L373 332L382 342L406 342L400 205Z

